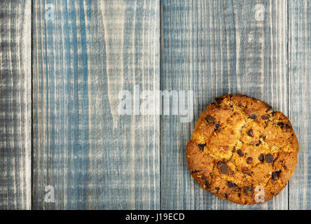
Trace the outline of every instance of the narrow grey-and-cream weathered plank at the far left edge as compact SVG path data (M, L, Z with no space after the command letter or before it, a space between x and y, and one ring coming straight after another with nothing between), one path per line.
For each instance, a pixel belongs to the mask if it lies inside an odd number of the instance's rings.
M31 209L31 1L0 1L0 209Z

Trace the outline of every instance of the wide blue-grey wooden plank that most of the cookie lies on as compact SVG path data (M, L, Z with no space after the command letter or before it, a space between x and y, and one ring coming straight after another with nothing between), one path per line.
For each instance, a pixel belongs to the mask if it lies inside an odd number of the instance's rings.
M194 183L185 156L214 97L247 94L287 114L286 9L286 1L161 1L160 88L194 91L191 123L160 118L161 209L287 209L287 187L260 205L219 200Z

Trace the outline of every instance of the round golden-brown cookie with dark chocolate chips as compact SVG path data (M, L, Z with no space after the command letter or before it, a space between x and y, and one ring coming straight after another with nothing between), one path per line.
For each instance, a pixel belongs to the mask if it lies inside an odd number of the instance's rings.
M201 188L238 204L278 195L293 174L297 155L289 119L241 94L209 104L186 148L188 168Z

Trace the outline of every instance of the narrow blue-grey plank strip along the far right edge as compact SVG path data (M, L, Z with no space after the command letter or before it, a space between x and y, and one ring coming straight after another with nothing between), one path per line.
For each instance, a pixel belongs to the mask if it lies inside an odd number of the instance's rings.
M311 1L289 0L289 118L299 141L289 209L311 209Z

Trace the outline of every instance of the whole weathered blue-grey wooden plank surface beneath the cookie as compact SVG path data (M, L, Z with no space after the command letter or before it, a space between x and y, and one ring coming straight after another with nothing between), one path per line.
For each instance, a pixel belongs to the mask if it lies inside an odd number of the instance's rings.
M310 0L1 1L0 18L0 209L311 209ZM193 90L193 120L120 115L137 86ZM227 93L298 136L296 170L264 204L220 200L188 172L195 121Z

